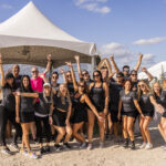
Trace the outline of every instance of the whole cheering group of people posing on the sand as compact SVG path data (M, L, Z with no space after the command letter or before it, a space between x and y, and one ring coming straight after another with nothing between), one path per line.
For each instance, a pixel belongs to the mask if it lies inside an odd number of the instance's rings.
M135 149L136 118L143 137L141 148L153 148L148 125L157 113L162 114L158 129L166 142L166 91L145 68L142 71L147 74L148 80L137 79L142 59L143 54L139 54L134 70L129 71L129 66L125 65L121 71L111 55L112 65L101 63L91 79L89 71L81 70L80 58L75 56L79 81L72 63L66 62L70 70L60 70L64 82L59 84L56 71L51 73L50 79L46 76L52 65L51 55L46 56L45 71L39 73L38 68L33 66L31 77L20 75L18 64L4 74L0 55L1 152L11 153L6 143L8 121L15 129L10 146L31 158L38 158L38 155L31 149L30 133L39 144L41 154L50 153L50 142L55 133L55 151L72 148L71 137L77 141L80 148L92 149L95 118L98 124L100 148L104 147L104 139L108 133L113 133L115 143L118 143L118 134L122 131L124 147ZM114 68L114 72L111 66ZM82 134L84 131L87 141ZM18 146L18 137L22 138L21 148ZM46 139L45 146L43 137ZM163 148L166 149L166 144Z

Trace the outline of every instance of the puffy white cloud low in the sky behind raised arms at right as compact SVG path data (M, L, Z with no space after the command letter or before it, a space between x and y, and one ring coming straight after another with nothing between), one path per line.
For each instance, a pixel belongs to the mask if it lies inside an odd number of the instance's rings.
M111 54L114 54L115 61L118 66L123 66L125 64L134 68L138 60L139 53L132 52L126 45L112 42L108 44L102 45L100 49L100 54L104 58L110 58ZM155 63L155 56L152 53L144 54L142 66L151 66Z

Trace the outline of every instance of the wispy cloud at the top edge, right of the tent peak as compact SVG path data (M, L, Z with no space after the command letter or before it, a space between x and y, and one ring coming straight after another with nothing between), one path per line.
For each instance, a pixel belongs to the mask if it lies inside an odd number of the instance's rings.
M108 0L75 0L75 6L86 9L92 12L97 12L102 14L106 14L111 12L111 8L107 6L104 6Z

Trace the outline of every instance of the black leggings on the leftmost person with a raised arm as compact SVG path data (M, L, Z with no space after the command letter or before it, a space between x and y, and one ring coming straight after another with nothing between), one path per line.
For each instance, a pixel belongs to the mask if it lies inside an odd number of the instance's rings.
M13 143L17 144L18 137L22 135L21 126L15 122L15 112L9 111L0 105L0 141L2 146L6 146L6 128L8 120L15 128L15 133L13 134Z

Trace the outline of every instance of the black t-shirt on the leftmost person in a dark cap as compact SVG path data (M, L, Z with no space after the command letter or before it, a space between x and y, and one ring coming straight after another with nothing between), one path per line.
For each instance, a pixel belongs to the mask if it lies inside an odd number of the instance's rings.
M10 85L6 84L4 87L2 87L3 98L2 98L2 105L8 108L9 111L15 111L15 97L12 94L14 90L10 87Z

